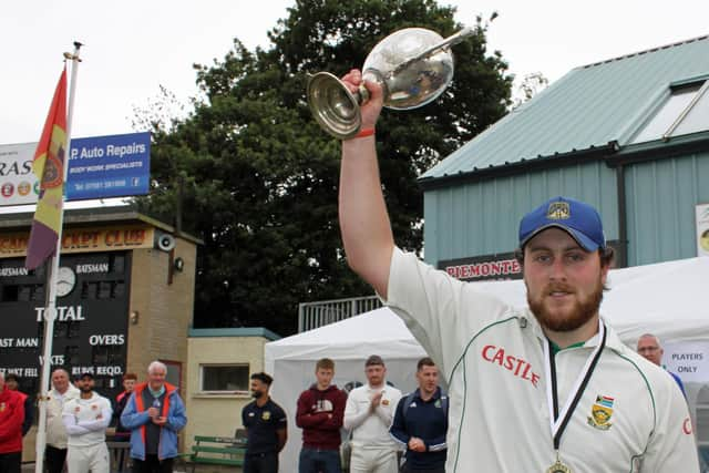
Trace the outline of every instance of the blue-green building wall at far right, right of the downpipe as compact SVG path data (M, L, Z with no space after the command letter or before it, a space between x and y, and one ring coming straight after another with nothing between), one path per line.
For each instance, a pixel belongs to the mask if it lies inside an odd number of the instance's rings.
M628 165L628 265L697 256L697 204L709 203L709 152Z

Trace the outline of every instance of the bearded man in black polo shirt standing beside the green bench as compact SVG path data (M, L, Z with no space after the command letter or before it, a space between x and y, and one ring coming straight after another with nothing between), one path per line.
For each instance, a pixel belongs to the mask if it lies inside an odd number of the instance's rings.
M246 429L244 473L278 473L278 454L288 440L286 411L268 395L274 382L269 374L254 373L250 379L254 401L242 410Z

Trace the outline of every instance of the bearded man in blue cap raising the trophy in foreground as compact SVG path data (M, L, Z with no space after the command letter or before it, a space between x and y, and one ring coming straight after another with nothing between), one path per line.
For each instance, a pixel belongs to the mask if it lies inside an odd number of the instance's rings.
M698 472L681 393L599 316L613 249L595 208L554 197L522 218L524 310L394 245L374 133L391 86L364 69L366 81L358 70L341 80L368 95L339 136L343 245L449 383L445 471Z

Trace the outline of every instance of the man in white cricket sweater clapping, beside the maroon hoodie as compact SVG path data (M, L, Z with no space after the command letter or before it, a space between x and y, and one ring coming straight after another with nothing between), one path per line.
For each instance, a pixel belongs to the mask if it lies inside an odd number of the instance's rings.
M387 368L372 354L364 363L367 384L353 389L345 407L345 429L352 432L351 473L397 473L399 445L389 428L401 399L401 391L387 385Z

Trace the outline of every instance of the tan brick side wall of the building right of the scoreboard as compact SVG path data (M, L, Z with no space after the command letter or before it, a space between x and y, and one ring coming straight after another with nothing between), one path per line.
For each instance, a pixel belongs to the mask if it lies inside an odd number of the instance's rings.
M174 257L185 261L182 273L167 284L169 254L156 248L133 251L130 312L137 312L137 323L129 321L129 359L126 371L143 380L151 361L182 363L187 369L187 330L192 325L195 287L196 247L176 238ZM181 394L184 395L184 382Z

